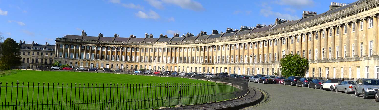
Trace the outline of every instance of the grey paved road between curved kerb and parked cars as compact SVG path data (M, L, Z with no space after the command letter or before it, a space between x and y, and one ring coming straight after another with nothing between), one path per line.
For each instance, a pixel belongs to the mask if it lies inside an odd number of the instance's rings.
M336 93L290 85L249 83L268 93L268 99L242 110L373 110L379 107L374 98L363 99L354 94Z

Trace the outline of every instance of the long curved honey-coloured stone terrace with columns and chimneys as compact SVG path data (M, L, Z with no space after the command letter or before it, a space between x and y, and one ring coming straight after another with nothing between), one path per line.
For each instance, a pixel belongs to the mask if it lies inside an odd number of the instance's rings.
M165 69L186 72L280 74L284 54L308 58L308 77L377 78L379 0L331 3L321 14L273 25L201 31L173 38L66 35L56 38L55 59L75 67Z

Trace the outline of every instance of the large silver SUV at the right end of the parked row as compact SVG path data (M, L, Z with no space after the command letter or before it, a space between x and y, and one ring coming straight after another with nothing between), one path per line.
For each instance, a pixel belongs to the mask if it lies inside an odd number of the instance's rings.
M369 96L375 96L379 88L378 79L366 79L360 78L357 80L354 96L362 95L363 99L367 99Z

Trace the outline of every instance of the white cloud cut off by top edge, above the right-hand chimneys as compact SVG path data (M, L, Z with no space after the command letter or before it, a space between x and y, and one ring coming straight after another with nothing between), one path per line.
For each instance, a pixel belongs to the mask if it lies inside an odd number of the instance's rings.
M293 8L309 7L315 4L313 0L277 0L274 3L279 5L290 5L293 6Z

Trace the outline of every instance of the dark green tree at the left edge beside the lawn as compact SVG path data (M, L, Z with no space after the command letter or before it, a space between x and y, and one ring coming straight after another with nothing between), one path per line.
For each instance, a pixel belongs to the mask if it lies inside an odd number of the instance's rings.
M20 46L12 38L7 38L0 46L0 70L21 66Z

